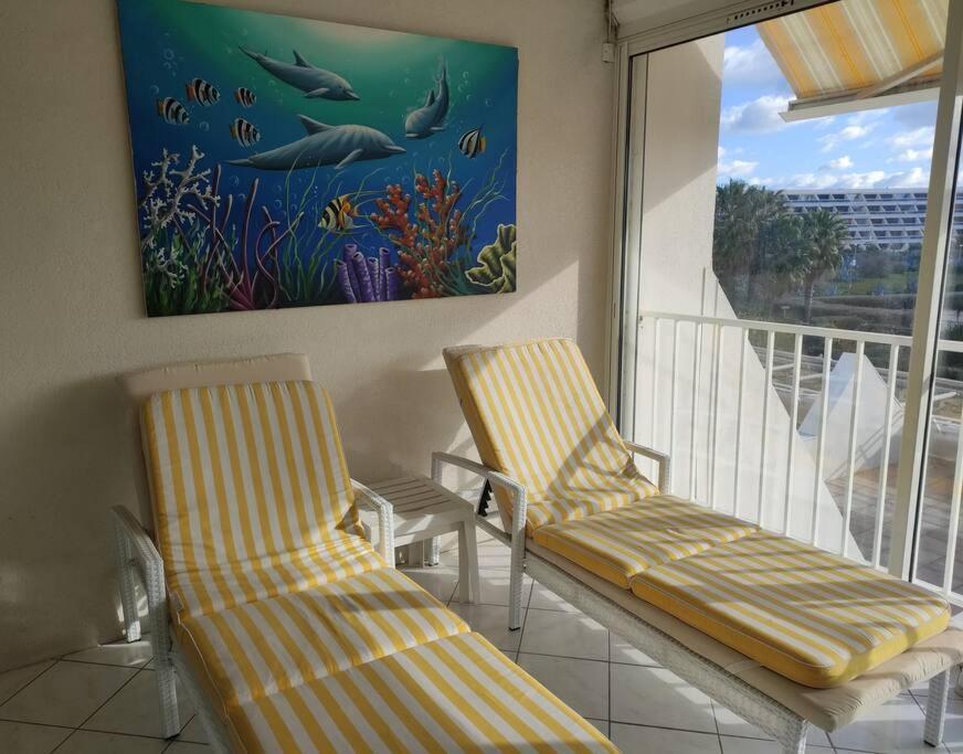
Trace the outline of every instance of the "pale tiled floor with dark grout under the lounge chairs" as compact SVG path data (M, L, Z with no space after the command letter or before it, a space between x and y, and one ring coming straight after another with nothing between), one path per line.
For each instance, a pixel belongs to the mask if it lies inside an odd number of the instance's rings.
M480 533L480 532L479 532ZM624 752L779 754L749 725L633 649L547 590L527 583L519 631L508 631L508 550L479 541L482 601L457 602L457 553L408 573L591 720ZM173 742L159 739L157 697L146 643L115 645L0 673L3 754L200 754L208 751L193 710ZM868 720L827 736L809 735L809 754L963 752L963 699L950 701L948 747L922 742L925 690L899 697ZM184 694L181 694L183 698Z

